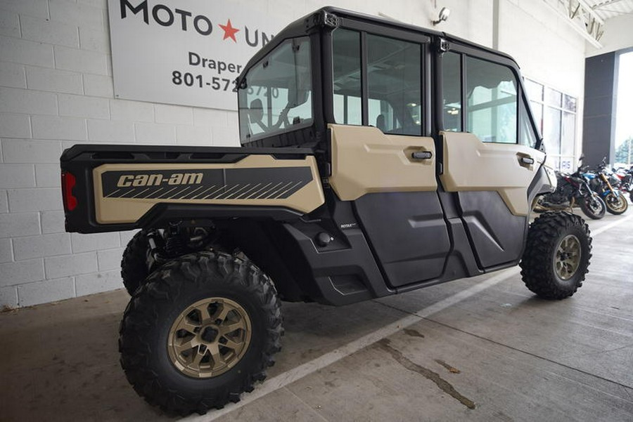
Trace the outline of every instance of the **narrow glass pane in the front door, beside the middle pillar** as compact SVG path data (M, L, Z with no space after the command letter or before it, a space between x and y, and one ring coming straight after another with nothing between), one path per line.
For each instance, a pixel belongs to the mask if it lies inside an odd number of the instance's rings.
M461 132L461 55L442 55L442 113L444 130Z

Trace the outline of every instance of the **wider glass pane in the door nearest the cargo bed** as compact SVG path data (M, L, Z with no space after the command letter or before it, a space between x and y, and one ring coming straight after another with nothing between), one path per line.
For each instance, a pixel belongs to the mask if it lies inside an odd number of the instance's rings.
M369 122L384 133L422 134L420 44L367 34Z

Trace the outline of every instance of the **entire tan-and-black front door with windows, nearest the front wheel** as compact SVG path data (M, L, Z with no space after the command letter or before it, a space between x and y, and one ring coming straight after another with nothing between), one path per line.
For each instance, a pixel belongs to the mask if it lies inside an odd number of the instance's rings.
M441 188L458 205L480 268L517 261L528 190L545 158L535 149L518 68L509 58L459 44L438 60Z

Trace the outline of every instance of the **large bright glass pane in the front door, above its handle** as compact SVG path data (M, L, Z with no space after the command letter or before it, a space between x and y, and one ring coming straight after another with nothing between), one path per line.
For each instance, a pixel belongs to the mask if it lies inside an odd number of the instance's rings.
M516 77L509 67L466 58L466 130L483 142L517 143Z

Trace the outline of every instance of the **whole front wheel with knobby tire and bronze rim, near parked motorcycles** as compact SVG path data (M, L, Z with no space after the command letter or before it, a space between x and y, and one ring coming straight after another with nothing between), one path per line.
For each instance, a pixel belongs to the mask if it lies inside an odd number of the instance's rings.
M582 286L592 257L589 226L580 216L543 213L530 224L520 262L528 289L545 299L563 299Z

